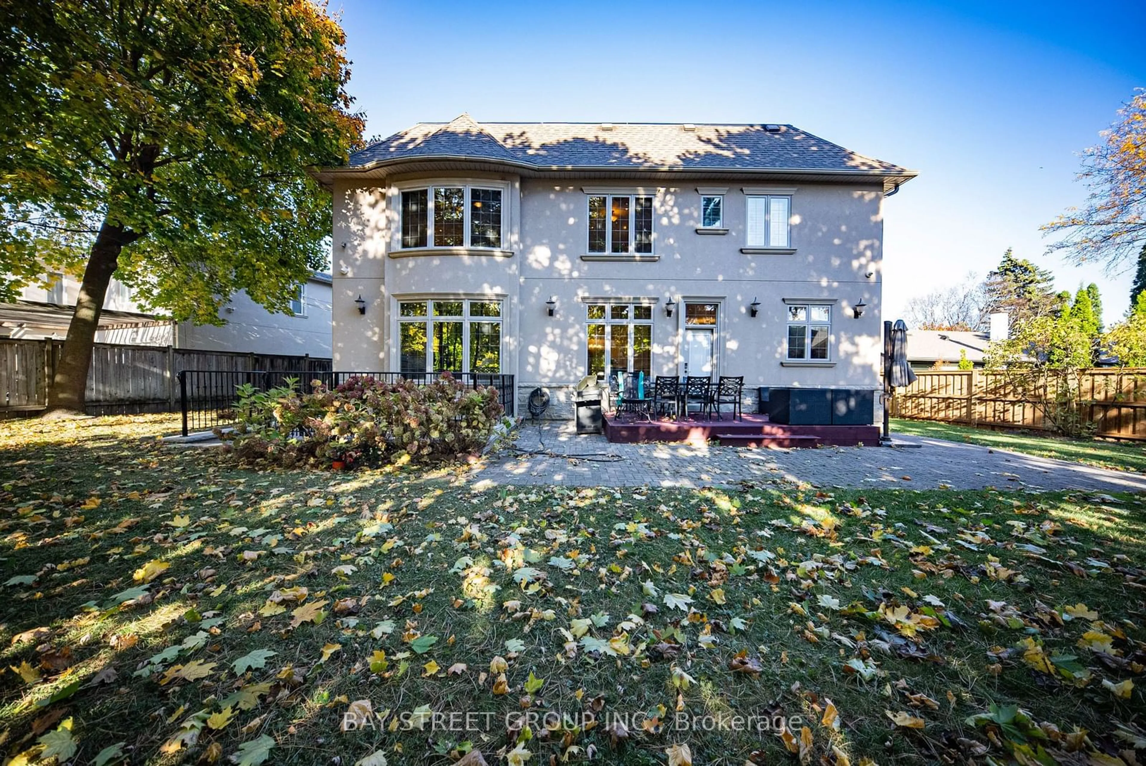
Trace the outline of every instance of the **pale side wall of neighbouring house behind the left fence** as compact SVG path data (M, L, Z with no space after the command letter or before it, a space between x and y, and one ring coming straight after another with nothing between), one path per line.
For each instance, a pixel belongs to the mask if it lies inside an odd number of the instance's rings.
M226 325L180 322L176 345L201 351L330 357L330 286L312 280L305 297L305 314L290 316L270 313L245 292L236 292L220 312Z

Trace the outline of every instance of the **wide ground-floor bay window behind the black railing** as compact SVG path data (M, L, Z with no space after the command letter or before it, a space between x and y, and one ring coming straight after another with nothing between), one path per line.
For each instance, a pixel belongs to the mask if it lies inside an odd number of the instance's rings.
M398 337L402 373L501 373L502 303L400 300Z

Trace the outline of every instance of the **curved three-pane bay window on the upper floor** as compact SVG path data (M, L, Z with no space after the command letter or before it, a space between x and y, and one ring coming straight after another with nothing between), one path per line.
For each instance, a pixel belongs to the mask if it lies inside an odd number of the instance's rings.
M502 189L431 186L402 192L402 248L502 247Z

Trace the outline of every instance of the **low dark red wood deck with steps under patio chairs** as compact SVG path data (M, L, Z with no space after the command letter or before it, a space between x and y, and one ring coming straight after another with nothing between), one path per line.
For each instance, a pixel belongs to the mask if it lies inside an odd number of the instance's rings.
M744 420L715 417L647 422L625 415L605 415L605 437L618 444L639 441L720 441L725 446L816 447L878 446L878 425L783 425L768 415L744 414Z

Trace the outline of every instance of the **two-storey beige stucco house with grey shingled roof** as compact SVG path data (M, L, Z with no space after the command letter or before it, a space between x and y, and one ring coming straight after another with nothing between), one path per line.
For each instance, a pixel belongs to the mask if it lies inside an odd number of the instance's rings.
M880 386L882 203L915 172L791 125L462 115L316 177L335 369L513 374L566 416L618 369L743 375L746 411Z

